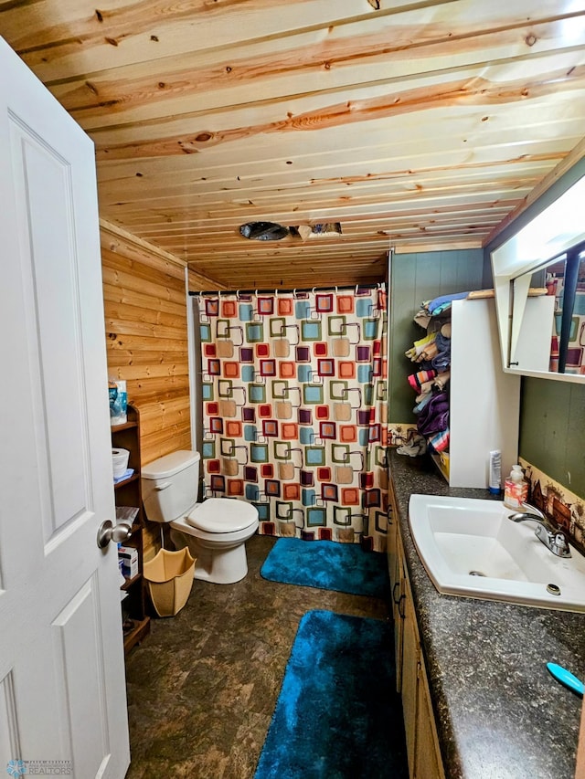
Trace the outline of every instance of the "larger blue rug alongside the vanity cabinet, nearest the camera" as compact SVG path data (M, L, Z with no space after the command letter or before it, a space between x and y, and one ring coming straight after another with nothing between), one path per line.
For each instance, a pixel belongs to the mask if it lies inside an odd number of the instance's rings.
M307 612L254 779L408 775L392 624Z

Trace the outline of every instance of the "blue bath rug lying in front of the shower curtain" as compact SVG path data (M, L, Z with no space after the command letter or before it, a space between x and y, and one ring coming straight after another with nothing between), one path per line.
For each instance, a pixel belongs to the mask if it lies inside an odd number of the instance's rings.
M388 596L386 554L358 543L279 538L261 567L271 582L319 587L351 595Z

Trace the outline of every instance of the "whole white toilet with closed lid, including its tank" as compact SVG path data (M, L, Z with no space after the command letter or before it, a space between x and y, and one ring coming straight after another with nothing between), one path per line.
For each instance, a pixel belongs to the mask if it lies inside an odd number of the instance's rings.
M142 471L148 520L170 522L177 549L197 558L195 578L216 584L239 582L248 573L246 542L258 530L258 511L243 500L210 498L197 503L199 453L178 451Z

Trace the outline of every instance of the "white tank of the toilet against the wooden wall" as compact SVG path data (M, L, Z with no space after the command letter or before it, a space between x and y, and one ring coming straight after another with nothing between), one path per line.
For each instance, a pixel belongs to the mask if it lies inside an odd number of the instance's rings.
M181 450L149 462L142 471L146 519L172 522L197 503L199 453Z

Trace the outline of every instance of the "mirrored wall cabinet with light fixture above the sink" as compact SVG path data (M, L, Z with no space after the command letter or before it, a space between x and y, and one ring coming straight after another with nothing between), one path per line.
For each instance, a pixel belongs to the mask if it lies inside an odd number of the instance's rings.
M585 177L492 252L506 373L585 382Z

